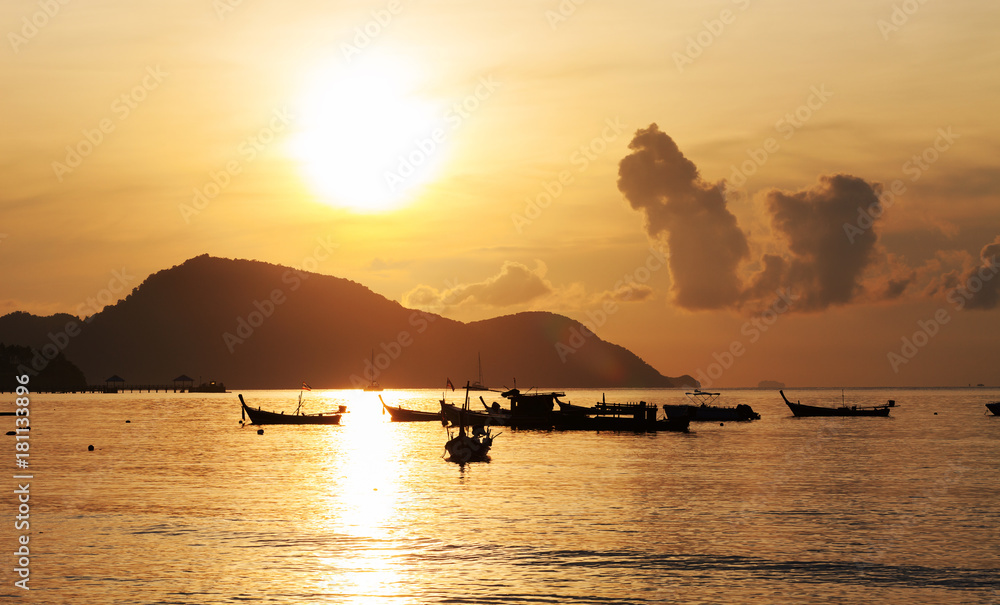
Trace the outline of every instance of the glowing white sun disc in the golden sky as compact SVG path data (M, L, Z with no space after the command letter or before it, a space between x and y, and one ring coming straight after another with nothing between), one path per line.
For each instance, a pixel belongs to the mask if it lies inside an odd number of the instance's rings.
M291 145L321 201L384 212L437 176L446 155L444 115L421 95L421 75L412 62L373 53L311 73Z

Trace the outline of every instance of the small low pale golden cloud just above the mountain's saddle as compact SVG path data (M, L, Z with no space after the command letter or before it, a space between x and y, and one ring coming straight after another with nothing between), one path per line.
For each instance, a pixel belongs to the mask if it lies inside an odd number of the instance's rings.
M403 295L403 305L442 312L463 305L509 307L527 304L554 292L552 284L545 279L545 271L541 261L536 261L535 269L507 261L497 275L481 282L458 284L443 290L419 285Z

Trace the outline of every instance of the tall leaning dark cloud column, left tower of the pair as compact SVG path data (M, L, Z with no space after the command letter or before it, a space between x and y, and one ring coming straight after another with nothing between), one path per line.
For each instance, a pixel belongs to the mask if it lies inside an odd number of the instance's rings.
M618 189L645 217L652 238L665 237L674 298L688 309L718 309L740 299L737 274L750 255L746 235L726 208L723 183L704 181L656 124L636 132L619 164Z

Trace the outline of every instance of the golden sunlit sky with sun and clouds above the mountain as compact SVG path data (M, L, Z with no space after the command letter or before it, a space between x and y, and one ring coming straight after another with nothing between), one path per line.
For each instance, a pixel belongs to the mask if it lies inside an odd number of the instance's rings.
M997 385L998 24L971 0L7 1L0 313L209 253L461 320L562 313L705 386Z

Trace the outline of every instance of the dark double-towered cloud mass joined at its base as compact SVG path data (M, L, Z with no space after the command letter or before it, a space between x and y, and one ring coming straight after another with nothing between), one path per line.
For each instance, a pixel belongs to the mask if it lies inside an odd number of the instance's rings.
M845 235L859 209L879 206L877 184L836 174L799 191L764 192L759 199L773 241L760 246L768 253L753 258L726 206L723 182L702 179L656 124L636 131L629 149L619 164L618 188L643 214L647 234L666 239L674 301L683 308L754 308L784 289L796 295L796 310L815 311L898 297L909 287L912 276L905 271L894 270L881 282L865 280L867 271L887 262L871 224Z

